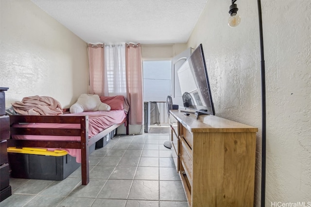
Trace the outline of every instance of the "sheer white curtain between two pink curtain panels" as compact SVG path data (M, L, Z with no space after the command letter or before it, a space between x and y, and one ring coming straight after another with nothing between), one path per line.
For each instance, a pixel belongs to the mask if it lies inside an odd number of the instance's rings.
M108 94L105 96L126 97L125 44L105 45L105 74ZM105 90L106 92L106 90Z

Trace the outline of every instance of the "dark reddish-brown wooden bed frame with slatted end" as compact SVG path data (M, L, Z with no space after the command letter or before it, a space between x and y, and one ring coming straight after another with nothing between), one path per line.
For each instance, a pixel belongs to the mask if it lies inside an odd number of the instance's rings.
M126 134L128 134L128 115L126 122ZM124 123L123 122L123 123ZM80 124L79 129L70 128L31 128L12 127L14 123L62 123ZM42 148L69 148L81 149L81 172L82 185L89 182L89 146L102 139L106 134L113 131L121 124L115 124L106 128L100 133L88 138L88 116L44 116L44 115L10 115L11 139L8 146L16 147L42 147ZM54 135L54 136L80 136L79 141L35 141L35 140L14 140L12 135Z

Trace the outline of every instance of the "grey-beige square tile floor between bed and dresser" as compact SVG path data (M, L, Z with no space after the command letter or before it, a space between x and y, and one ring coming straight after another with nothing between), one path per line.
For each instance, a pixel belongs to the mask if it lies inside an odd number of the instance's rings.
M0 207L188 207L168 134L117 136L90 154L90 182L78 168L62 181L11 178Z

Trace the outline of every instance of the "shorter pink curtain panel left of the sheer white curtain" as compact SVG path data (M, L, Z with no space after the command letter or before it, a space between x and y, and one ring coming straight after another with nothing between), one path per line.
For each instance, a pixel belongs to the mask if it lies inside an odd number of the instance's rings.
M104 45L88 45L89 94L105 96Z

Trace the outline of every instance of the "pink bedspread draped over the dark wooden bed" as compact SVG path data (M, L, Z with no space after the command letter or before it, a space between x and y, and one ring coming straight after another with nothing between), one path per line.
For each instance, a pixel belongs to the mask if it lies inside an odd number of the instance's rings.
M112 111L84 111L81 113L66 113L62 116L88 115L88 137L91 138L104 129L123 122L126 113L123 110ZM80 124L48 124L48 123L30 123L14 125L14 127L34 127L34 128L80 128ZM40 136L40 135L12 135L17 140L67 140L76 141L80 137L67 136ZM49 148L48 150L55 150ZM76 157L76 161L81 163L81 149L64 149L69 155Z

